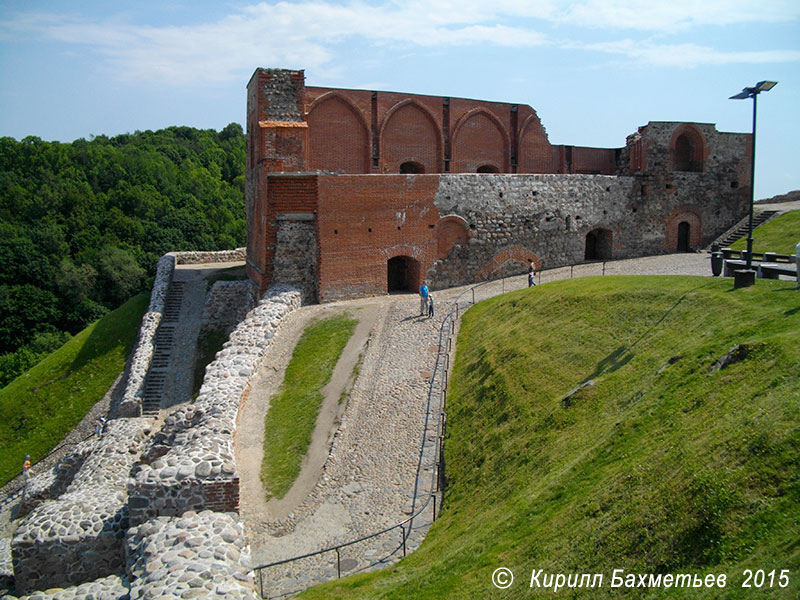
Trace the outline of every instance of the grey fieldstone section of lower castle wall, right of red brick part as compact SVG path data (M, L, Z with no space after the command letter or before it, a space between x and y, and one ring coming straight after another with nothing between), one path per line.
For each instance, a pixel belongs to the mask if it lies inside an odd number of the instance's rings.
M528 258L537 267L580 262L586 234L599 227L614 232L616 257L647 253L626 239L633 183L607 175L442 176L434 204L443 217L464 219L471 237L437 260L428 277L443 288L508 274L507 261L512 272L524 271Z

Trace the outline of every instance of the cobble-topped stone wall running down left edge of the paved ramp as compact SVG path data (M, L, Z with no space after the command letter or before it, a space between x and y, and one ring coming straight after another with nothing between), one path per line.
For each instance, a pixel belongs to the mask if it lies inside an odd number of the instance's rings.
M195 402L167 417L128 486L132 524L208 508L238 509L233 433L239 405L281 319L300 298L288 286L270 290L208 365Z

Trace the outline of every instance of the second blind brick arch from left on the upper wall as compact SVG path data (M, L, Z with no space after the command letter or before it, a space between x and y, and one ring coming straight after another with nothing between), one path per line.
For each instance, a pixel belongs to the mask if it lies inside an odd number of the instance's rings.
M412 99L390 108L380 127L381 162L384 173L399 173L400 165L414 162L425 173L440 173L442 134L431 112Z

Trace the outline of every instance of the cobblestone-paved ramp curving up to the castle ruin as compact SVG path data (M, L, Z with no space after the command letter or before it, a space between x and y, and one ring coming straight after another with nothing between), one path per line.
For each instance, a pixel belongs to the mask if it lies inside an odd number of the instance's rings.
M601 275L604 269L606 275L711 275L706 254L680 254L611 261L605 267L596 263L547 270L540 273L539 281ZM525 275L490 282L475 290L475 301L526 285ZM472 303L469 286L435 292L437 315L433 319L418 316L419 301L413 294L325 305L327 310L334 306L352 309L364 302L378 302L381 315L371 333L361 374L351 392L330 456L311 493L286 518L277 519L263 503L248 498L248 492L243 491L241 514L252 545L254 565L348 542L409 516L425 423L428 378L436 361L439 326L459 295L463 310ZM314 310L320 307L306 307L298 313ZM282 335L291 329L291 325L286 327ZM281 360L288 362L293 343L283 345ZM281 360L269 366L271 383L256 384L254 391L258 392L251 393L248 403L268 403L273 386L279 385L282 379L285 364ZM430 422L429 431L435 430L437 425L436 420ZM432 461L434 456L432 445L426 447L422 482L430 481L431 465L426 461ZM239 468L243 480L258 476L244 472L241 462ZM417 493L418 501L427 496L429 490L429 484L423 485ZM250 493L257 492L251 488ZM415 521L408 550L422 542L431 520L429 513L426 509L419 522ZM382 568L402 555L402 534L398 528L343 548L338 560L336 553L328 552L265 570L265 597L278 597L335 579L339 572L344 576Z

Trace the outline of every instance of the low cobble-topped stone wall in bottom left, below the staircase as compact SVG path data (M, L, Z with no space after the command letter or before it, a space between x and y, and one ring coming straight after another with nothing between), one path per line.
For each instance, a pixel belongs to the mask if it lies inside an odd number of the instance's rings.
M76 585L124 571L128 475L150 427L150 419L109 421L66 492L22 521L11 543L18 591Z

